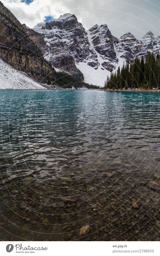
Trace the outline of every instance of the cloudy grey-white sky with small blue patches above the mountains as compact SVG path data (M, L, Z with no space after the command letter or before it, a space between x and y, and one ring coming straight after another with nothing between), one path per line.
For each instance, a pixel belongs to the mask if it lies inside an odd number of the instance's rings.
M137 39L148 31L160 35L159 0L1 0L23 24L34 27L65 13L75 14L83 27L107 24L118 38L131 32Z

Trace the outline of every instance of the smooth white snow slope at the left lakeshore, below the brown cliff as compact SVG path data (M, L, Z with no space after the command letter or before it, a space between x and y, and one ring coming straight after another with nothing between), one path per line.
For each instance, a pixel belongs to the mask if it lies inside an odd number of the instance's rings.
M0 59L0 89L46 89Z

